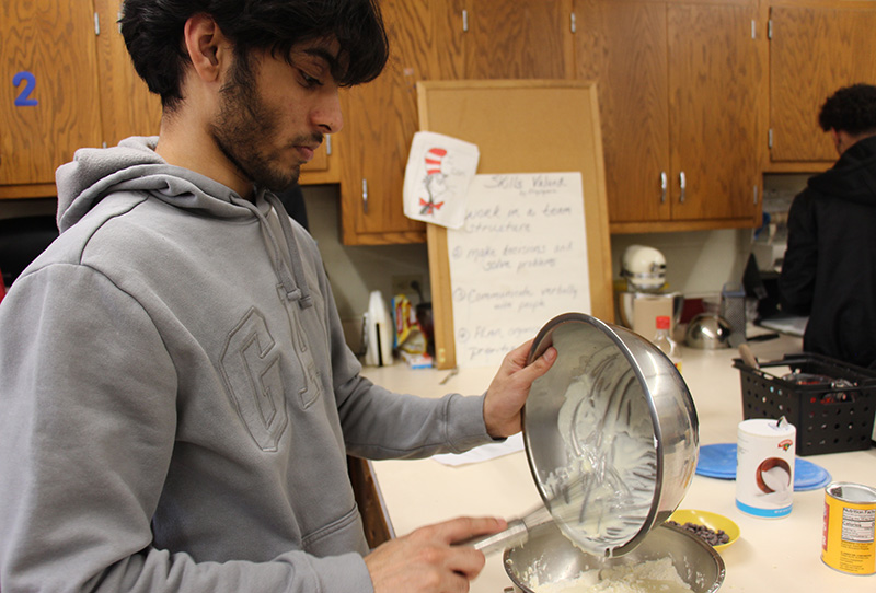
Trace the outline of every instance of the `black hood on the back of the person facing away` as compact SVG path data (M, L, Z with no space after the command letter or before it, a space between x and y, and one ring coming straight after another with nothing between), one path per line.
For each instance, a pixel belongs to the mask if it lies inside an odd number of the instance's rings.
M876 207L876 136L852 144L831 168L811 177L808 186L833 199Z

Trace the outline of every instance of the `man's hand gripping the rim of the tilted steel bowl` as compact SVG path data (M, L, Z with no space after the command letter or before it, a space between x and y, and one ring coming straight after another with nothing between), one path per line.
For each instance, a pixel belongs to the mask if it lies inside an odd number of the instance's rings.
M505 356L484 398L484 422L494 439L510 437L522 429L520 410L529 396L532 382L548 372L556 360L556 349L551 346L529 367L526 365L532 341L519 346Z

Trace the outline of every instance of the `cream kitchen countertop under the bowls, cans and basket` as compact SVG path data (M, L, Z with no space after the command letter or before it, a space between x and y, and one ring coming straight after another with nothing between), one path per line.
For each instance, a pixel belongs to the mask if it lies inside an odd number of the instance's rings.
M758 359L766 361L798 352L800 340L781 336L750 346ZM682 354L682 376L700 420L700 444L735 443L737 425L742 420L739 371L731 367L737 351L683 348ZM364 374L396 392L439 397L450 392L483 392L495 369L461 369L451 374L396 364L367 368ZM876 447L805 458L827 469L834 481L876 487ZM448 466L435 460L382 461L374 462L373 470L396 535L459 515L512 519L541 503L523 452L463 466ZM800 592L875 591L876 575L846 574L821 561L823 505L823 488L798 491L788 516L757 519L736 509L733 480L698 475L679 508L721 513L739 525L739 539L721 553L726 565L722 593L776 588ZM496 554L487 558L471 591L500 593L511 584L502 566L502 555Z

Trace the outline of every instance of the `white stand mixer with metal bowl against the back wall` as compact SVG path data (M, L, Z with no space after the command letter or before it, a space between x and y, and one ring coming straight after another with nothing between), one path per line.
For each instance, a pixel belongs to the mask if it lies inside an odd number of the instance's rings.
M645 245L630 245L621 261L621 277L626 290L618 291L618 318L627 327L648 339L654 337L658 315L671 318L671 329L681 317L684 296L666 291L666 257L658 249Z

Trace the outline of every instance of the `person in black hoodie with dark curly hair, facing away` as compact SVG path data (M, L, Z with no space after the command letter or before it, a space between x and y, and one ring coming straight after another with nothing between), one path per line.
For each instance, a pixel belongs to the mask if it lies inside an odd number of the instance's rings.
M783 309L809 315L805 351L876 368L876 86L840 89L818 123L840 158L792 202Z

